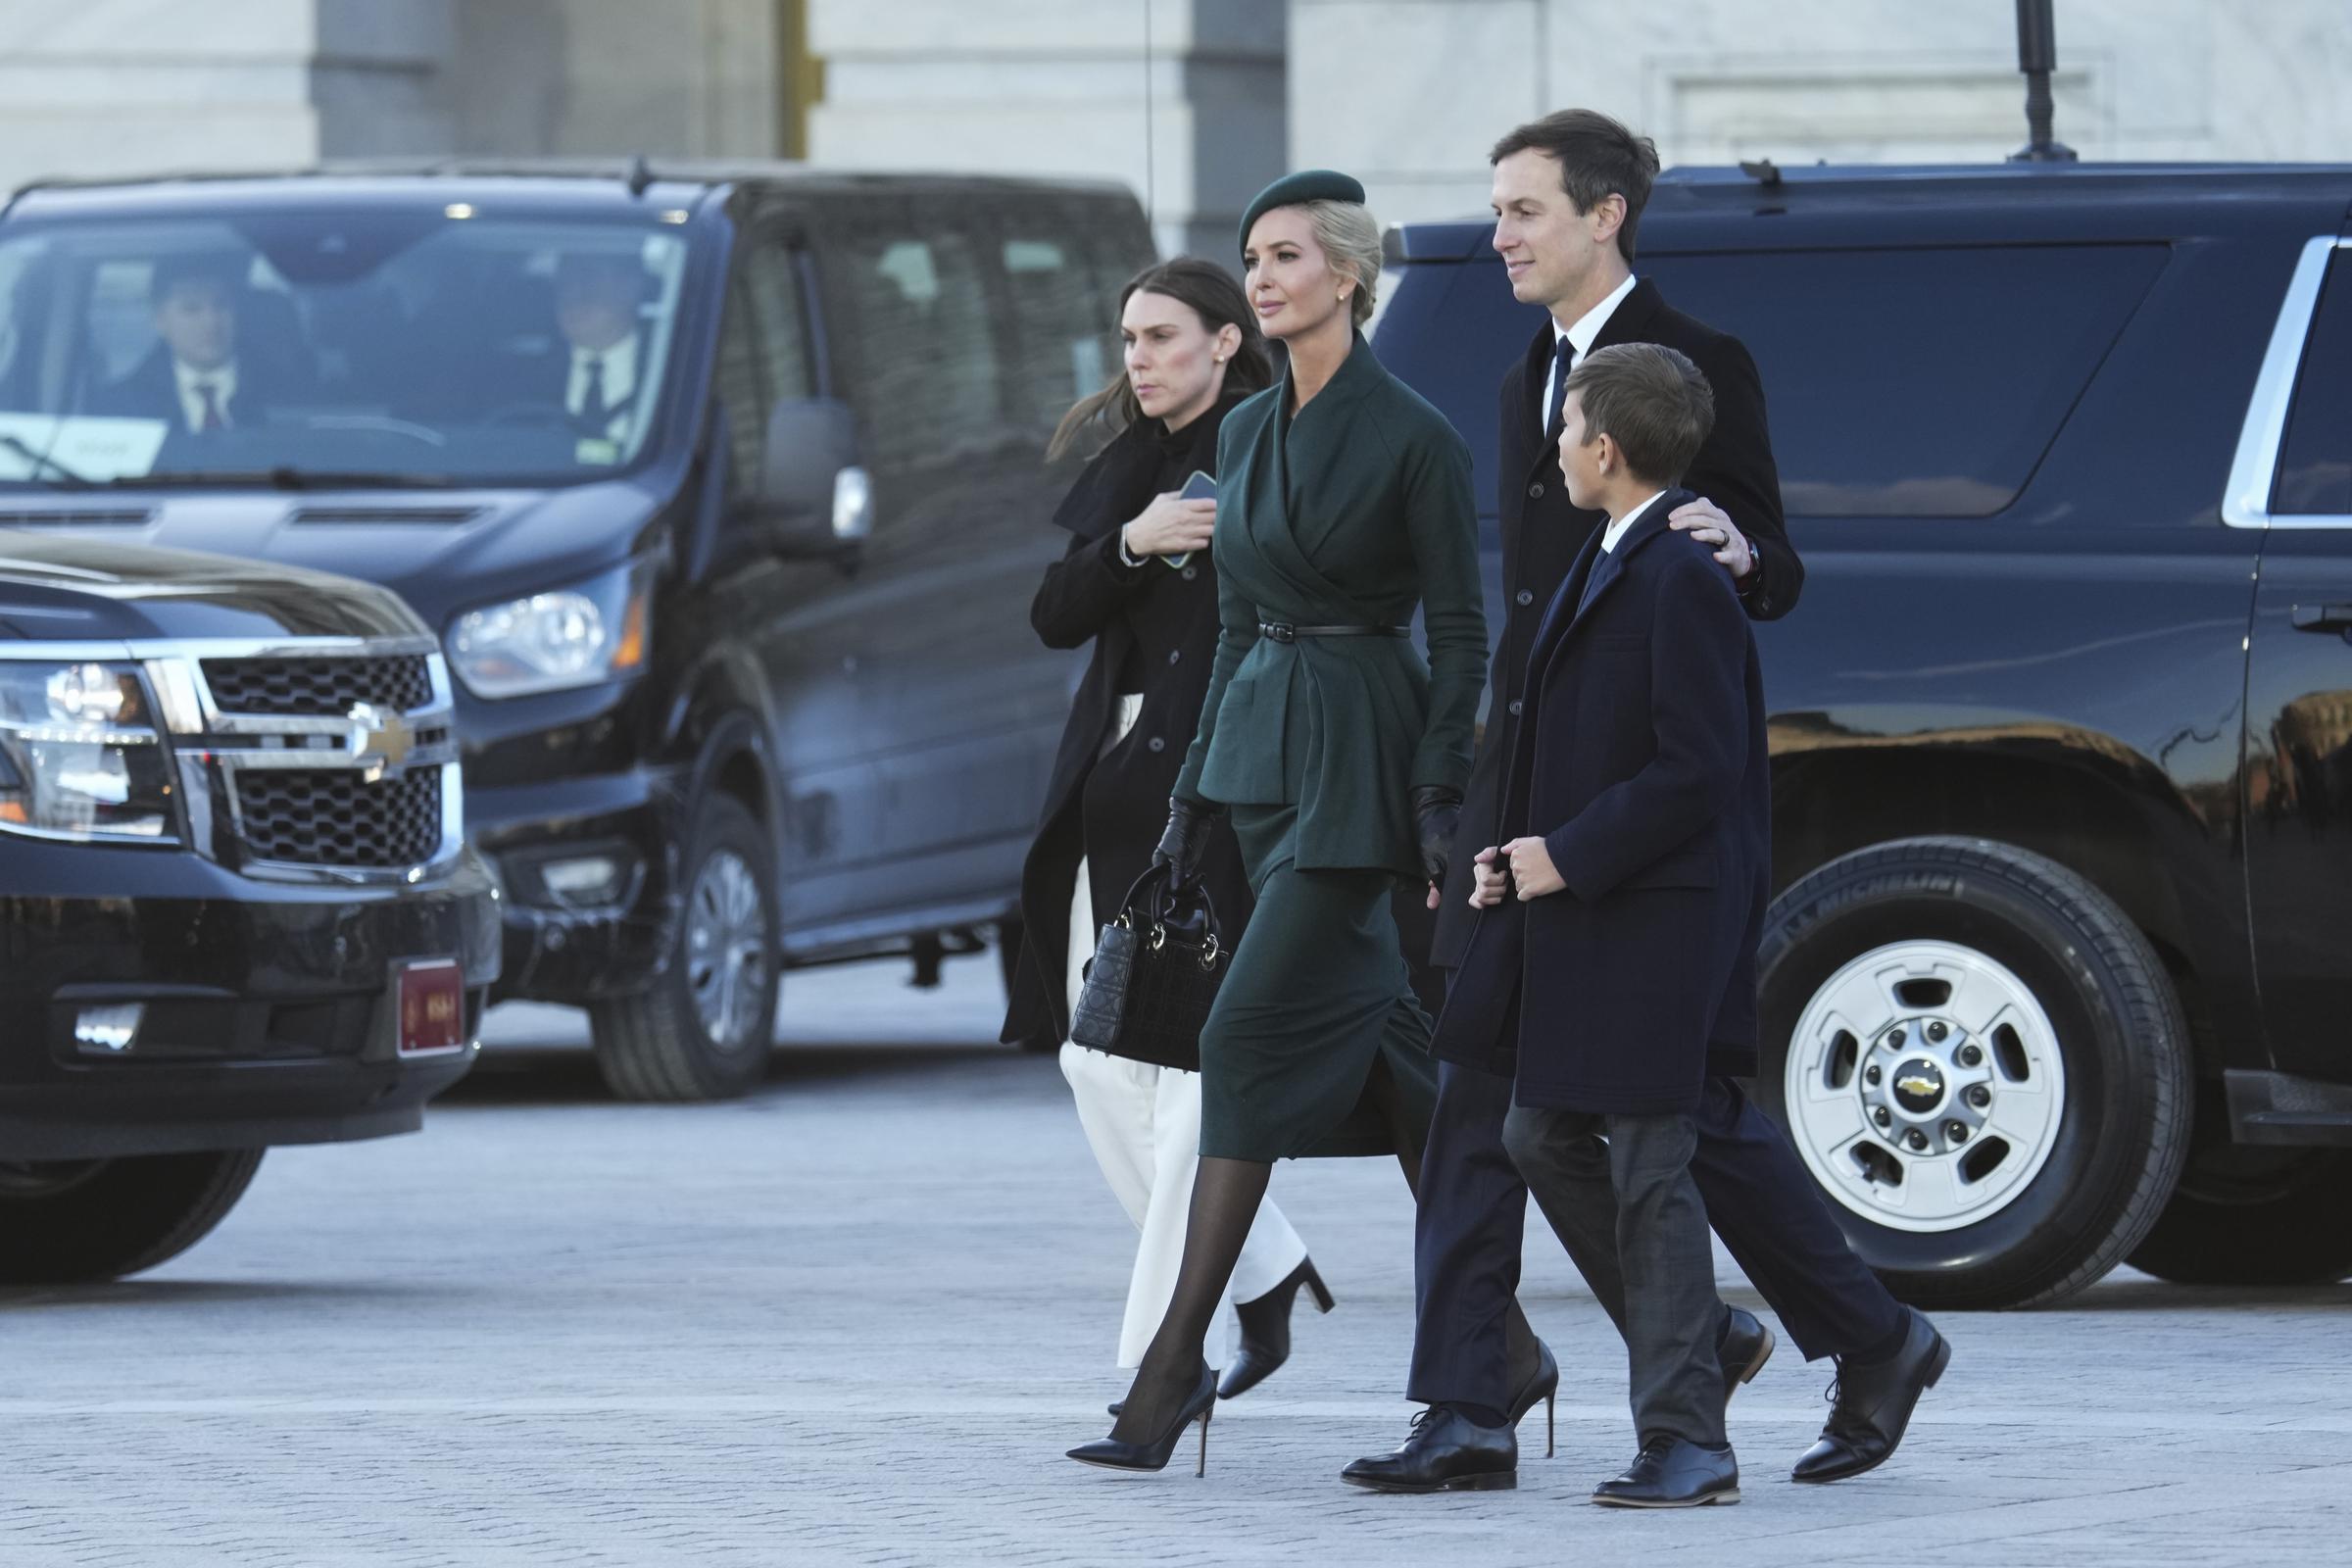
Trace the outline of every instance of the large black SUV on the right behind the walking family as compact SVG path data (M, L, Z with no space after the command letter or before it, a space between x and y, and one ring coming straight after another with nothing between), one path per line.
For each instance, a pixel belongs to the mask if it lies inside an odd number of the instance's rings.
M1912 1300L2352 1272L2347 216L2338 167L1764 165L1642 219L1806 562L1759 1091ZM1541 313L1489 235L1392 235L1378 350L1491 496Z

